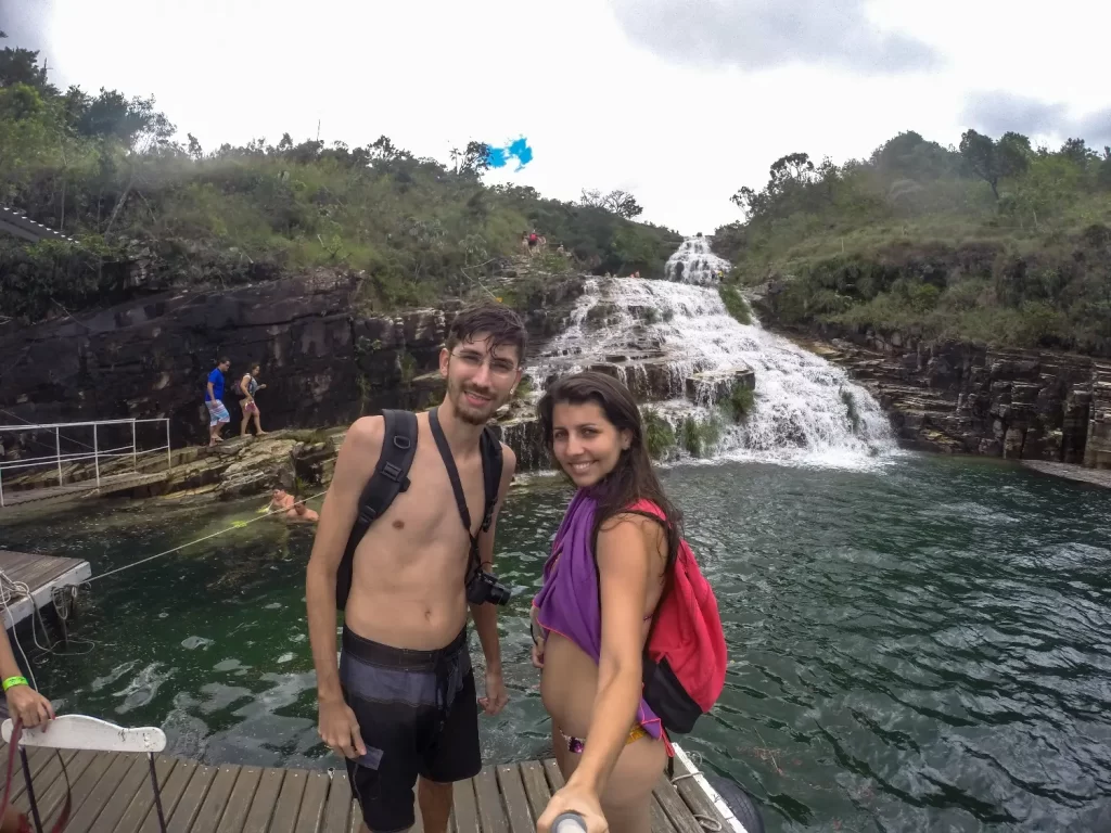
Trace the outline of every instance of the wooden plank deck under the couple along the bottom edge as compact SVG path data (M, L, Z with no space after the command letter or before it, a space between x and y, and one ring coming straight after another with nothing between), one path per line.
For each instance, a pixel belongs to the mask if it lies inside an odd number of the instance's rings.
M67 833L157 833L146 755L73 752L36 747L28 751L36 803L47 830L66 799L61 763L73 804ZM17 759L17 769L21 769ZM357 833L362 823L352 804L347 774L340 771L278 770L259 766L208 766L186 759L160 756L156 772L162 807L172 833ZM0 744L0 773L8 767L7 745ZM685 773L675 762L675 774ZM29 812L21 771L14 773L14 805ZM554 761L526 761L483 767L471 781L456 784L450 833L527 833L552 791L563 780ZM672 786L660 780L652 797L652 833L705 833L695 813L715 819L714 830L729 831L721 815L697 786L682 779ZM420 810L417 826L422 831Z

